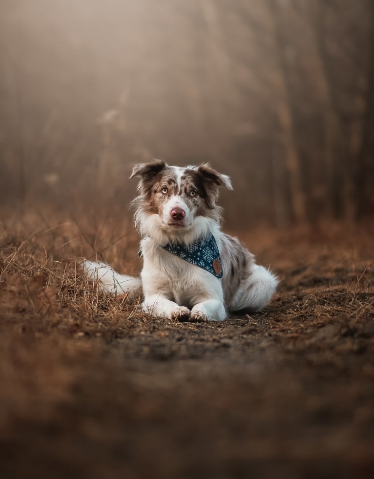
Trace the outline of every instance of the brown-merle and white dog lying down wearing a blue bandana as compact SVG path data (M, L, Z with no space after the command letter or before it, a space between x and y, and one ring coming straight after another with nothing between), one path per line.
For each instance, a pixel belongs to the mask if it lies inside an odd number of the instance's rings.
M110 294L142 296L143 311L179 321L222 321L228 312L262 310L278 280L220 229L216 202L221 187L232 189L229 177L208 163L174 167L161 160L136 165L134 177L140 179L132 207L143 238L141 278L85 260L88 279Z

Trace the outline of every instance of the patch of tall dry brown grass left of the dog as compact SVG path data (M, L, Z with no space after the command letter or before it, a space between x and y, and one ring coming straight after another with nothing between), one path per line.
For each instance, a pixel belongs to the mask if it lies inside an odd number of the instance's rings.
M136 257L137 242L126 219L116 227L95 216L88 224L85 218L82 221L61 213L47 217L27 214L16 223L5 219L0 232L0 281L9 298L3 300L4 307L9 304L12 311L42 316L66 309L103 319L132 314L134 308L125 297L105 297L85 281L79 263L83 257L94 258L132 272L135 268L130 258ZM12 296L15 301L8 300Z

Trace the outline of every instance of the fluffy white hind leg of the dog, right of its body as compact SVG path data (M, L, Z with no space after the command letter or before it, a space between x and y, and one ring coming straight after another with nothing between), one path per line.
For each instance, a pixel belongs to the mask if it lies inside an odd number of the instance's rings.
M256 264L251 267L252 273L242 282L229 304L229 311L260 311L274 294L278 279L269 270Z

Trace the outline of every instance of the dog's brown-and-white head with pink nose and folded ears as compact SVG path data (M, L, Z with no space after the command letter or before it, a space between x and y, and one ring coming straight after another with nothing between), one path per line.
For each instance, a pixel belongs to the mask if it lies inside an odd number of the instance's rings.
M134 176L140 177L139 196L134 200L135 219L145 234L149 234L145 222L153 221L158 229L173 235L193 228L196 221L201 223L205 218L219 223L219 187L232 189L229 177L207 163L181 168L156 160L136 165L130 178Z

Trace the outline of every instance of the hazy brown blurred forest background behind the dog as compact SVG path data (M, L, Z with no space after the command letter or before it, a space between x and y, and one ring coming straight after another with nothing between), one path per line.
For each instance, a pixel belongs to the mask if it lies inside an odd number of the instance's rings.
M372 0L2 0L0 202L135 194L208 161L226 223L370 218Z

